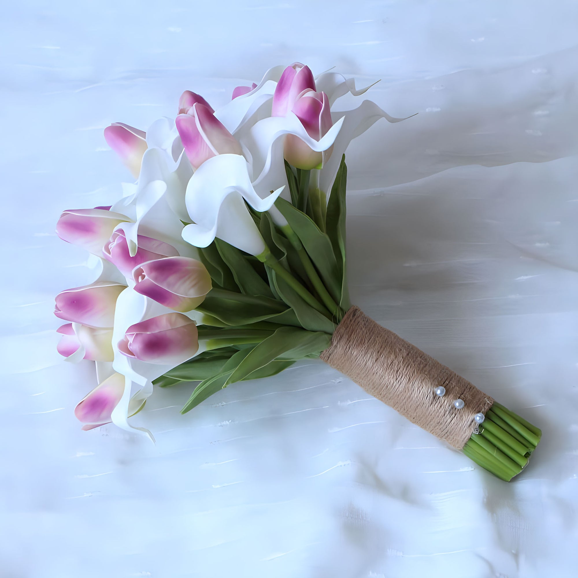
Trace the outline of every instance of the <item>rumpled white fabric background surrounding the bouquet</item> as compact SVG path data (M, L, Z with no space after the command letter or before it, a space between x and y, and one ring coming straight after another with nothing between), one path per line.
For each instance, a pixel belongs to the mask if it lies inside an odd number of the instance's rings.
M0 26L2 578L576 575L576 1L25 1ZM156 391L156 445L80 431L94 375L51 311L91 277L54 225L129 179L102 129L295 60L419 113L348 152L351 294L543 429L513 483L321 363L186 416Z

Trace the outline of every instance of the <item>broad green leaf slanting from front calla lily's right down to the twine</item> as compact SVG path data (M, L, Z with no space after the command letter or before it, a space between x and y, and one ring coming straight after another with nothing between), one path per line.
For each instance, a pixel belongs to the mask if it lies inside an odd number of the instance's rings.
M329 237L305 213L296 209L285 199L278 198L275 206L303 243L329 294L336 303L339 303L343 276Z

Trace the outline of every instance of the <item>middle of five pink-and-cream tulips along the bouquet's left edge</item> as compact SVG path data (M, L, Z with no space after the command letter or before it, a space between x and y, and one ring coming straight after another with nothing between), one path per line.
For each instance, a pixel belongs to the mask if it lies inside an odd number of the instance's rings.
M88 327L113 327L116 299L125 289L126 286L112 281L67 289L56 296L54 314Z

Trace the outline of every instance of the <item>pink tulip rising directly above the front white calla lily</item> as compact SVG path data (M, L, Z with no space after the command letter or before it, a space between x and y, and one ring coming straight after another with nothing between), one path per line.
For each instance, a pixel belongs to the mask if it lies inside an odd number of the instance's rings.
M187 114L179 114L175 120L184 151L195 170L217 154L243 154L235 137L211 110L197 102Z

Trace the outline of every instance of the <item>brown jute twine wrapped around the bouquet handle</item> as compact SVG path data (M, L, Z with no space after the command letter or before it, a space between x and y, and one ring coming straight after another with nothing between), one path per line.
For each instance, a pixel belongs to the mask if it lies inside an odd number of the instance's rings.
M494 400L399 335L381 327L353 306L335 329L321 359L368 394L437 438L461 450L476 429L476 413ZM443 386L439 397L435 388ZM464 400L456 409L454 401Z

